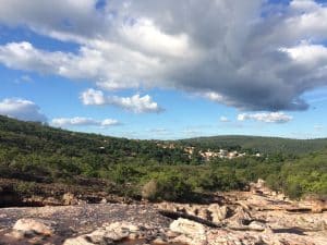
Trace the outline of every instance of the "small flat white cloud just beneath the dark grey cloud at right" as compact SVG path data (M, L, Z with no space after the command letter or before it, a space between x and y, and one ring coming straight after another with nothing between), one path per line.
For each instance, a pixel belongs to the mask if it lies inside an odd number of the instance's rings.
M265 123L287 123L293 118L283 112L263 112L263 113L241 113L238 115L239 121L254 120Z

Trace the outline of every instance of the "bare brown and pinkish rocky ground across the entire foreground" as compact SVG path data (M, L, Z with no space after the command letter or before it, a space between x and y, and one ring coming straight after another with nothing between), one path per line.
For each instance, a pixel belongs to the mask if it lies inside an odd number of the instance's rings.
M253 184L219 201L97 204L0 209L0 244L324 245L323 200L291 201ZM78 201L76 201L78 203Z

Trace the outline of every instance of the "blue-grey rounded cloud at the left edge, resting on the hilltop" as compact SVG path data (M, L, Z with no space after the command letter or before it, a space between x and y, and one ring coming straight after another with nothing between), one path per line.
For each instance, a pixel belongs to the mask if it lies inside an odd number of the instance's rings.
M5 98L0 101L0 114L24 121L46 122L39 107L26 99Z

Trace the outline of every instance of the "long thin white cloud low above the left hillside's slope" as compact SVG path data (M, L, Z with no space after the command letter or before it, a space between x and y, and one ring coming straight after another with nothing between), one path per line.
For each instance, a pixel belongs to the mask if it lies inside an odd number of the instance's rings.
M120 124L114 119L105 119L102 121L98 121L92 118L80 118L80 117L52 119L51 123L55 126L101 126L101 127Z

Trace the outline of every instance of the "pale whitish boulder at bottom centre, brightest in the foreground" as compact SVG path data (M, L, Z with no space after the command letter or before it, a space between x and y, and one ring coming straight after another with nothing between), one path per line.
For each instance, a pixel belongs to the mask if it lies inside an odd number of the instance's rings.
M206 233L206 229L203 224L182 218L174 220L169 228L173 232L189 235L191 237L195 235L204 235Z

